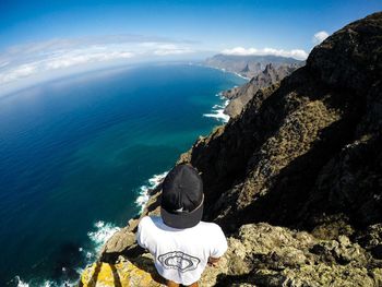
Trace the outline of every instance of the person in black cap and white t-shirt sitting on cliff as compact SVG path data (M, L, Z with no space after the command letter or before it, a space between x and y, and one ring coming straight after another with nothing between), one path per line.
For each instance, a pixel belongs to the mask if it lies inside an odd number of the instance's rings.
M165 178L160 217L141 219L136 240L155 258L155 267L167 286L198 287L205 266L227 250L222 228L201 222L203 182L190 165L176 166Z

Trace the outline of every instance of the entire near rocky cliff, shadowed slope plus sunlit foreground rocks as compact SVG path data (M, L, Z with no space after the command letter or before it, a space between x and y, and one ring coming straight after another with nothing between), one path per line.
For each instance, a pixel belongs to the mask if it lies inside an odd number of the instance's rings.
M229 242L201 286L382 286L381 81L375 13L333 34L180 156L202 172L204 219ZM160 187L142 216L159 202ZM110 286L160 286L134 243L136 224L107 242L81 285L95 286L105 270Z

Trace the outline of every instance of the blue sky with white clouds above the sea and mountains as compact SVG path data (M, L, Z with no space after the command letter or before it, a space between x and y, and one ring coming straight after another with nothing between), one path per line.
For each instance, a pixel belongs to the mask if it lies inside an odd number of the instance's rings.
M302 59L326 35L381 10L380 0L1 0L0 85L73 67L222 51Z

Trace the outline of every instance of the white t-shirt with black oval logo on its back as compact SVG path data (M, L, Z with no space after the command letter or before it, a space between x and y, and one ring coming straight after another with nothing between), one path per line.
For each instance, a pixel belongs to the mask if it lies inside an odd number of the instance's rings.
M204 222L177 229L165 225L162 217L145 216L138 226L136 241L154 255L164 278L183 285L200 279L210 256L220 258L227 251L222 228Z

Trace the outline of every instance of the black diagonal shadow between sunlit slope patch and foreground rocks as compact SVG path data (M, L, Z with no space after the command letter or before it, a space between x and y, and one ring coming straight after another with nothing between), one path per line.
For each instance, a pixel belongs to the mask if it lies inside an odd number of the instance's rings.
M308 218L301 211L314 189L322 168L351 139L355 125L348 123L349 119L343 119L323 129L320 140L314 142L309 152L289 163L272 180L272 187L266 194L255 196L250 205L241 211L234 211L218 222L228 228L266 222L272 225L310 229L310 217ZM339 136L333 137L333 134ZM317 212L330 213L329 207L323 205L317 208Z

